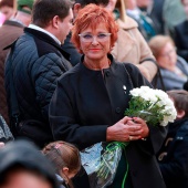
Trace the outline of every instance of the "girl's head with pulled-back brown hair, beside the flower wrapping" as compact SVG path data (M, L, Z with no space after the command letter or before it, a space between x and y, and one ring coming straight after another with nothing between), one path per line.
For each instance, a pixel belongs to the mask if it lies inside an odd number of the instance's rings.
M54 164L56 173L66 181L81 169L80 152L72 144L61 140L50 143L42 152Z

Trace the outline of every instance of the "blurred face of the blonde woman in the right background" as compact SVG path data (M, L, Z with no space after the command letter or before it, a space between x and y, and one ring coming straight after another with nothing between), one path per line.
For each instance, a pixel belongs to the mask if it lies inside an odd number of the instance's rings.
M170 42L166 43L161 49L157 62L159 66L167 70L173 70L176 66L177 54L175 46Z

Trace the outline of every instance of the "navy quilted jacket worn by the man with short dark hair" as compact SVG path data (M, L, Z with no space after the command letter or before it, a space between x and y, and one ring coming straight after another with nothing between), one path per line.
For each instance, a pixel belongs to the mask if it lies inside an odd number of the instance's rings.
M38 135L39 129L53 140L49 126L49 103L56 86L58 79L72 66L67 53L48 34L24 29L24 34L17 41L12 59L10 55L6 64L6 90L10 109L10 74L12 70L15 95L20 108L20 122L39 121L31 123L27 135L19 136L39 139L36 144L42 147L43 140ZM10 62L12 61L12 66ZM11 112L10 112L11 113ZM36 128L33 128L36 126ZM39 128L38 128L39 127ZM23 126L24 128L24 126ZM38 135L38 136L35 136ZM41 135L42 136L42 135Z

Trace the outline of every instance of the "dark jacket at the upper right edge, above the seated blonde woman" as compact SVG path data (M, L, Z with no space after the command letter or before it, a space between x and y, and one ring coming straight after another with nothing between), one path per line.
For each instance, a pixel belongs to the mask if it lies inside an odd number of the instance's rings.
M175 27L175 43L178 54L188 62L188 20Z

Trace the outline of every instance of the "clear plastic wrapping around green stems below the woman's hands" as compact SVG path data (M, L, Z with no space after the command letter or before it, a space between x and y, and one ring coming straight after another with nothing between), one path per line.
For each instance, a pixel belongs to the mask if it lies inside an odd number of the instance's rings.
M118 142L97 143L80 153L91 188L105 188L113 182L122 157L122 149L127 144Z

